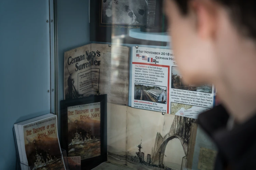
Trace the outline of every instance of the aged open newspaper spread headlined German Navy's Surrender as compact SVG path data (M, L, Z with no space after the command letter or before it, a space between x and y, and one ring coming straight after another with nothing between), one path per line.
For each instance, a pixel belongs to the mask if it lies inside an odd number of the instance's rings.
M65 99L107 94L108 102L128 105L129 47L88 44L65 52Z

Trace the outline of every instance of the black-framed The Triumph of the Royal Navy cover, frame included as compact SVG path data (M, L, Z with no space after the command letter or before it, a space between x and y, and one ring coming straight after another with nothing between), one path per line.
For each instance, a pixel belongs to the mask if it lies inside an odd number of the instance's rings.
M61 147L81 156L81 168L107 160L107 95L60 101Z

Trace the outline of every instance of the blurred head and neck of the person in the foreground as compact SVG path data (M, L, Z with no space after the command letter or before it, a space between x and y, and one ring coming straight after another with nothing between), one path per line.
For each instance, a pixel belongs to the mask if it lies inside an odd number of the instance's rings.
M183 80L215 84L238 117L256 100L255 6L253 0L165 0L164 5Z

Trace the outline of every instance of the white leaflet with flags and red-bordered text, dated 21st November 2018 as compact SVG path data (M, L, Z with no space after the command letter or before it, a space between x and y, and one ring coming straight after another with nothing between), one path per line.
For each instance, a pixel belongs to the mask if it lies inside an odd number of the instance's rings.
M214 86L184 84L172 50L132 51L132 107L190 118L213 107Z

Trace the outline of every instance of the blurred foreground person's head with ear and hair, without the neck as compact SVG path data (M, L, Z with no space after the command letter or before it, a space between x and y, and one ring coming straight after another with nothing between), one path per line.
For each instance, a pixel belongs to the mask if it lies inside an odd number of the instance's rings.
M220 74L225 79L227 65L243 57L242 53L234 56L238 48L256 38L255 4L246 0L165 0L175 58L186 82L209 83Z

